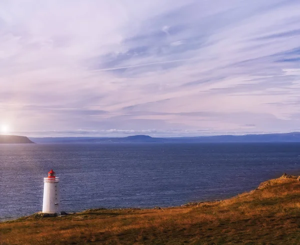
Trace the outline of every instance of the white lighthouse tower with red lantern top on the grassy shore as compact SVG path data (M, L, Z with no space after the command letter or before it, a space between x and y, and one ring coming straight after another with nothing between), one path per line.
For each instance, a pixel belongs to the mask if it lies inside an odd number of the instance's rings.
M44 193L42 201L43 213L60 214L59 178L51 169L48 176L44 178Z

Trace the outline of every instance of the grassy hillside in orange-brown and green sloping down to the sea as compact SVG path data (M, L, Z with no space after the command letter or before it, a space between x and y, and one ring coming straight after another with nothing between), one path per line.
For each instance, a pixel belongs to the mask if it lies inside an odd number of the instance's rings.
M90 209L0 223L0 244L87 243L300 244L300 181L283 176L230 199L183 207Z

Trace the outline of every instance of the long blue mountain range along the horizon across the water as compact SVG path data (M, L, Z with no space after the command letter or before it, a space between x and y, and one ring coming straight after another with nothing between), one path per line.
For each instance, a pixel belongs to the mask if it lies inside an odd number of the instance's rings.
M36 143L200 143L200 142L300 142L300 132L191 137L30 137Z

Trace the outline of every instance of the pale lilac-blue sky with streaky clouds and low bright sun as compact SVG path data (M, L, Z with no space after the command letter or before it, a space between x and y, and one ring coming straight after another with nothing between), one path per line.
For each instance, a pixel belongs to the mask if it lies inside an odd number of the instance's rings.
M300 131L300 1L0 0L0 125L27 136Z

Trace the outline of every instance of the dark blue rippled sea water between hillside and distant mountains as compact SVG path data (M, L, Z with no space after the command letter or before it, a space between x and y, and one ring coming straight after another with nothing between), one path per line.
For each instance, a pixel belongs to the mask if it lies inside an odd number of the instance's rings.
M50 168L65 211L173 206L300 174L300 143L2 144L0 219L41 210Z

